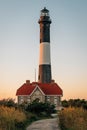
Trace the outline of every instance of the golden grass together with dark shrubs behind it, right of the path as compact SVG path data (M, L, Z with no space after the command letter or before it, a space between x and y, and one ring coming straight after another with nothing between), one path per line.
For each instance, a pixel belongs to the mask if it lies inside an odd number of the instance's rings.
M69 99L62 101L59 113L61 130L87 130L87 100Z

